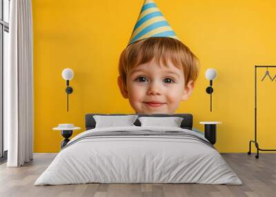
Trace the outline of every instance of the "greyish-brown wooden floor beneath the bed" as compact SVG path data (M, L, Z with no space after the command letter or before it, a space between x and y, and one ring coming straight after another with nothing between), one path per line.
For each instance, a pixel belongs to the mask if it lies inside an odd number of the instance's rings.
M276 154L221 154L244 185L82 184L33 186L56 154L34 154L23 167L0 166L0 196L276 196Z

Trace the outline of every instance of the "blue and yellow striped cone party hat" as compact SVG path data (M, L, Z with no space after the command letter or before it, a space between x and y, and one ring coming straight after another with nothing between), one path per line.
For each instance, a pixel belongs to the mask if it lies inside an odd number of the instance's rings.
M150 37L170 37L179 40L159 8L157 8L155 1L145 0L128 45Z

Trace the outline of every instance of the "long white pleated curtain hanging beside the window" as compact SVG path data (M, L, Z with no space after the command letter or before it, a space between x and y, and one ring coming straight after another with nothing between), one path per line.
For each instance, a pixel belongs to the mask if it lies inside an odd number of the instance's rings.
M10 1L9 63L4 76L4 128L8 167L33 158L33 74L31 0Z

